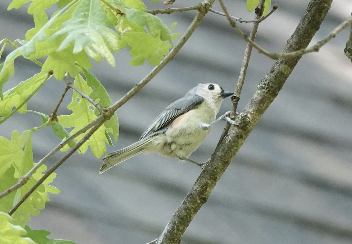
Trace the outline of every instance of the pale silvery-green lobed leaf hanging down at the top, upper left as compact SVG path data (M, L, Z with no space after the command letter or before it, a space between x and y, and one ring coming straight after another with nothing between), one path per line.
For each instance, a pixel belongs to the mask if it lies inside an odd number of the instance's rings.
M101 62L105 57L111 66L115 66L112 52L119 50L119 36L107 25L111 25L111 22L106 17L99 1L83 0L73 12L72 19L65 22L64 28L50 39L67 34L58 52L68 48L74 42L74 54L84 49L96 62Z

